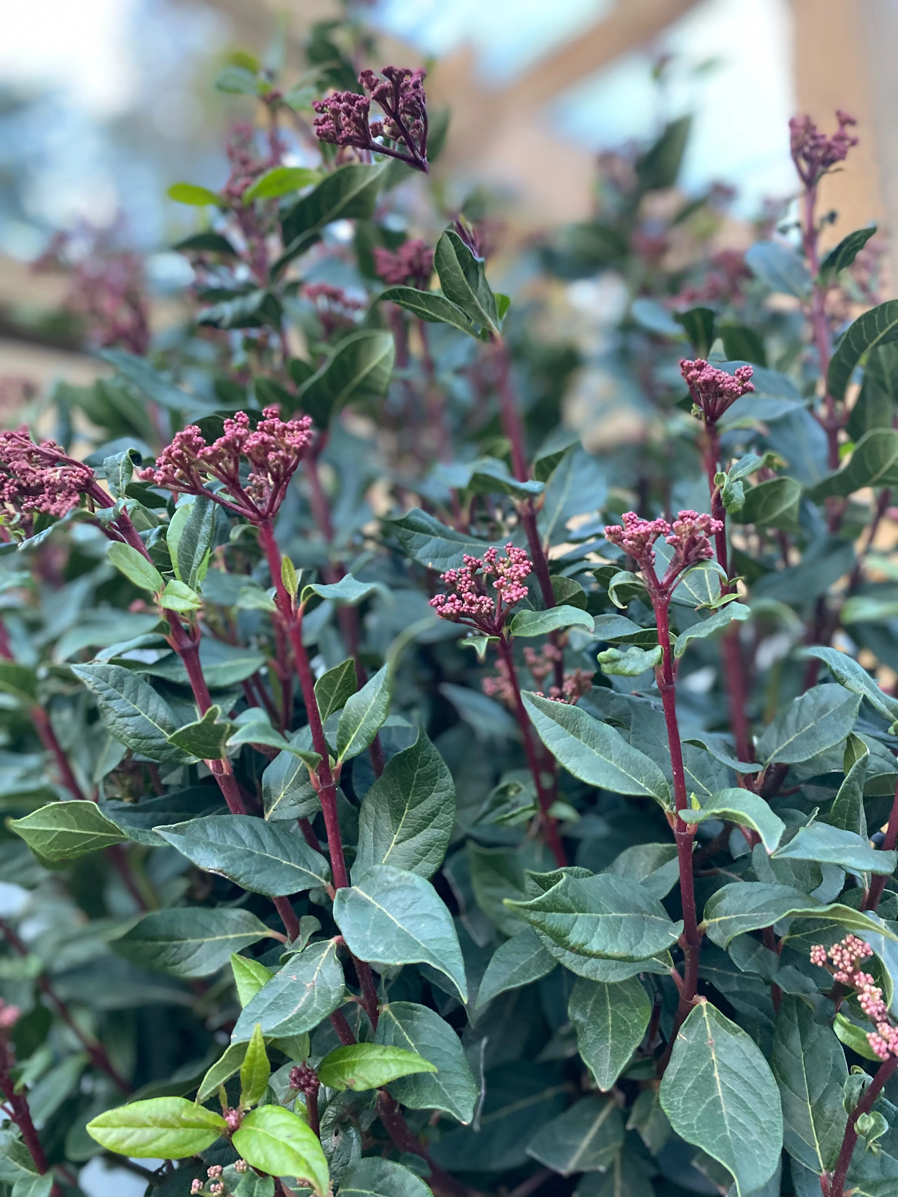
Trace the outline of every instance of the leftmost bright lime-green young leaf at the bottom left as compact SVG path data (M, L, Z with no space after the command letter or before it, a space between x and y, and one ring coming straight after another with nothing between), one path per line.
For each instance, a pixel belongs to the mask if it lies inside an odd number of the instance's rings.
M186 1098L153 1098L107 1110L87 1132L109 1152L135 1159L182 1160L196 1155L227 1129L220 1114ZM162 1156L159 1153L162 1152Z

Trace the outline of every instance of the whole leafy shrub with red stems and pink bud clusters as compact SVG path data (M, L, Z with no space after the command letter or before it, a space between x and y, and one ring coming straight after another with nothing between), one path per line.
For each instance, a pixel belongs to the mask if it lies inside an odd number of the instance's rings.
M171 188L195 317L147 358L92 286L114 377L0 433L0 1184L890 1197L898 302L873 230L819 248L853 122L793 122L744 257L672 190L685 122L528 250L629 292L645 435L587 452L370 44L223 72L266 120Z

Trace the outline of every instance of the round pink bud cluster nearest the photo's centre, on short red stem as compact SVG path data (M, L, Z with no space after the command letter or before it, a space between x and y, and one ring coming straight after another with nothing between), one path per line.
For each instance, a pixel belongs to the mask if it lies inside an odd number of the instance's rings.
M498 636L511 608L527 597L524 578L533 570L533 561L523 548L505 545L505 555L499 558L497 548L487 548L483 558L465 555L460 570L447 570L439 578L449 594L436 595L430 606L441 619L454 624L467 624L487 636ZM486 579L492 578L496 597L486 589Z

